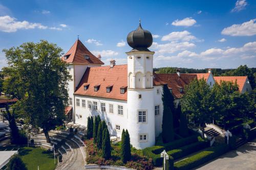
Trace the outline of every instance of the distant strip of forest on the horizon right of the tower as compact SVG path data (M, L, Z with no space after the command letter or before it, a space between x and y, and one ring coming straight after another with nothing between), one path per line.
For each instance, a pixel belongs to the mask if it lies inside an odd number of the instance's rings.
M161 67L153 68L157 74L174 74L177 72L178 67ZM195 68L179 68L180 73L206 73L208 68L195 69ZM255 88L256 82L256 68L248 68L247 65L240 65L236 69L221 69L211 68L212 75L214 76L248 76L252 89Z

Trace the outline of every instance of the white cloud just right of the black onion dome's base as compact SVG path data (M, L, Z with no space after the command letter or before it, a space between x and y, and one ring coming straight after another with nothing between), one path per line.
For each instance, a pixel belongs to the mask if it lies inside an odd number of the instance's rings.
M157 54L165 54L165 53L175 53L177 51L186 50L188 48L193 48L196 45L194 43L189 42L169 42L166 44L158 44L157 42L153 43L151 48L156 49Z

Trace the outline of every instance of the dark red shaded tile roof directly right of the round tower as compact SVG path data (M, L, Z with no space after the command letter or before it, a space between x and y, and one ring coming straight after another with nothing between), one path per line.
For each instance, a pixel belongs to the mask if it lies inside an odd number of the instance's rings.
M184 88L192 80L196 79L196 74L154 74L154 85L167 84L168 88L172 88L175 98L181 98L184 92L180 92L180 88Z

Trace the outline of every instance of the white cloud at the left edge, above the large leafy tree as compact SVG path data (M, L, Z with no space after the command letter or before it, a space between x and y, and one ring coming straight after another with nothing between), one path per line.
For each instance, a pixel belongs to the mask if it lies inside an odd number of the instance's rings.
M17 21L16 18L9 15L0 16L0 31L11 33L16 32L19 29L47 29L47 26L41 25L41 23L31 23L26 20Z

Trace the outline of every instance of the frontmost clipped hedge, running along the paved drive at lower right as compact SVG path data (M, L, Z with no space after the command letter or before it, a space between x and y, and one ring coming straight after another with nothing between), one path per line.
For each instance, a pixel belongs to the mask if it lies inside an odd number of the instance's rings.
M214 159L229 150L227 144L217 145L216 147L210 147L205 149L204 151L193 155L185 160L174 163L175 170L185 170L191 169L196 166L199 166L211 159Z

